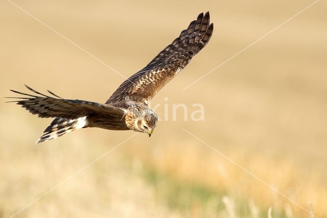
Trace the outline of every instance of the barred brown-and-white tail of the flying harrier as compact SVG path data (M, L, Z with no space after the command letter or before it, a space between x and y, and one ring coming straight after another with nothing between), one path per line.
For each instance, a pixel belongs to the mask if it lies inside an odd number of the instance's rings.
M55 118L50 126L44 130L44 134L36 141L36 143L57 138L86 126L86 116L77 119Z

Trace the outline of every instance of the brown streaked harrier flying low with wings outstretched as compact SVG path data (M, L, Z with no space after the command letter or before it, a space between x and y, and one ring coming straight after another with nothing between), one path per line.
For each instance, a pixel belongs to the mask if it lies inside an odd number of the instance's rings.
M208 43L213 29L209 12L199 14L178 38L146 67L123 82L104 104L62 99L49 90L52 96L48 96L28 86L26 88L37 95L11 90L27 95L17 97L19 100L13 102L39 117L55 118L36 143L86 127L134 130L151 136L158 116L148 108L149 101Z

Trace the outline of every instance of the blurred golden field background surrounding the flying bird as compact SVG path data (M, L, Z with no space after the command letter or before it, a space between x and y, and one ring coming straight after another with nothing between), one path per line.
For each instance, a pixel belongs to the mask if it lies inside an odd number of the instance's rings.
M324 1L182 91L313 2L15 1L125 77L200 12L210 11L215 27L205 49L153 99L160 117L165 104L169 113L151 138L124 142L134 132L83 129L36 146L51 119L4 100L0 217L26 206L15 217L267 217L270 207L272 217L313 217L303 208L327 217ZM1 96L28 84L105 102L125 80L10 2L0 3L0 17ZM178 103L188 106L187 121L182 110L173 121ZM190 119L196 103L204 121Z

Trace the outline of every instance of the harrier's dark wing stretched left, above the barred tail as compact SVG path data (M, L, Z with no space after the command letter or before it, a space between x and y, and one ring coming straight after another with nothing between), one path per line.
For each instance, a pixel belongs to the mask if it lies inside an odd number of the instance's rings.
M99 104L96 102L88 102L82 100L68 100L62 99L58 95L51 93L55 97L48 96L42 94L34 89L25 85L26 88L33 91L36 94L41 96L33 95L33 94L26 94L19 91L11 90L18 94L27 95L28 97L7 97L7 98L14 98L19 99L17 101L18 105L21 107L26 108L32 114L38 114L39 117L60 117L64 119L76 119L79 117L83 117L89 115L91 113L98 113L98 114L116 114L124 115L123 108L117 108L106 104Z

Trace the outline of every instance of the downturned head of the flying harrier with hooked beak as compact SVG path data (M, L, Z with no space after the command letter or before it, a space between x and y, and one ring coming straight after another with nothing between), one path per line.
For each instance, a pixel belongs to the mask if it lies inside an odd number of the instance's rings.
M157 121L158 115L147 108L144 113L134 120L134 131L148 133L150 137L157 125Z

